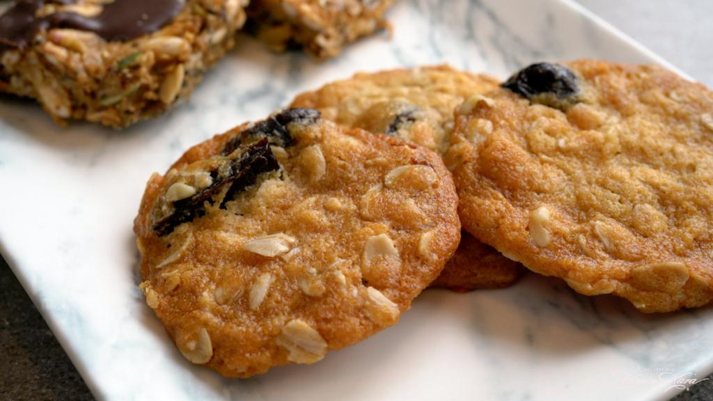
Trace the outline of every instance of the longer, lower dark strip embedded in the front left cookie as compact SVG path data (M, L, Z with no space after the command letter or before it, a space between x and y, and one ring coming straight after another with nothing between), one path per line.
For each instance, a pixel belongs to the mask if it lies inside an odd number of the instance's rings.
M189 198L176 200L173 203L173 213L153 225L153 230L158 236L168 235L181 223L193 221L193 219L205 215L205 202L215 203L213 197L223 191L226 186L230 187L220 203L220 208L225 208L225 203L235 199L238 193L254 185L260 174L279 169L279 164L270 150L270 141L267 138L245 146L242 153L229 163L227 173L222 175L217 171L210 173L213 178L213 183L210 186Z

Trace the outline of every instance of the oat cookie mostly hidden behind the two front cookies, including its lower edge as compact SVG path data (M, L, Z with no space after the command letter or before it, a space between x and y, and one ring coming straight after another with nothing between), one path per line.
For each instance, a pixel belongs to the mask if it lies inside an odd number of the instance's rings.
M448 148L453 109L474 93L498 88L495 78L451 66L357 73L302 93L292 107L316 108L343 126L398 136L435 151ZM518 264L463 233L456 255L434 286L464 291L503 288L517 280Z

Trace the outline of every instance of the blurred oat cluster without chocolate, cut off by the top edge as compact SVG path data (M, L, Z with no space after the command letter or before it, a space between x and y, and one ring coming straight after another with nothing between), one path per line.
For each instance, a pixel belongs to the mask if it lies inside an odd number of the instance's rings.
M337 56L342 46L388 27L396 0L252 0L247 9L257 38L274 51L302 46L313 56Z

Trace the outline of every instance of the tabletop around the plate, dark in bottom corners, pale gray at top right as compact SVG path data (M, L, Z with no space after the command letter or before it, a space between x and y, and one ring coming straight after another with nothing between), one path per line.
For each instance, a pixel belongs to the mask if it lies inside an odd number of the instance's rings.
M583 6L713 86L713 2L707 0L578 0ZM698 21L694 24L692 21ZM0 398L7 400L91 400L91 394L51 331L0 260ZM9 368L8 368L9 367ZM712 377L713 378L713 377ZM713 380L676 400L713 399Z

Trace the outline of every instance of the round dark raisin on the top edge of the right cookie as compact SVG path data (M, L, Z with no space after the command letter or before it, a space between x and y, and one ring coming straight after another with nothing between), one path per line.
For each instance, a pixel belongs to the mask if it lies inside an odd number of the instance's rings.
M501 86L531 101L555 107L571 102L579 93L575 73L570 68L551 63L527 66Z

